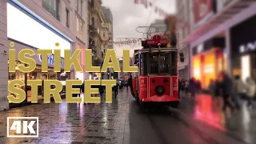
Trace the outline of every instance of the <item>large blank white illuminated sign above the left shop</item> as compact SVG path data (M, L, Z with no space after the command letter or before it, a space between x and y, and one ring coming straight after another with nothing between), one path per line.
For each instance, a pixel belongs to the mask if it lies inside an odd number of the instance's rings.
M71 48L70 41L57 34L46 23L31 16L32 12L25 13L25 8L16 7L18 6L7 3L7 37L39 49L61 50L61 57L64 58L64 50Z

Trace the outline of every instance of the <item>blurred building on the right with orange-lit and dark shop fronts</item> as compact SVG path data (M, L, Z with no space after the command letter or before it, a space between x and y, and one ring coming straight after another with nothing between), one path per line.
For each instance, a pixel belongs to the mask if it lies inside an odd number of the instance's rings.
M200 79L203 88L222 71L256 81L255 8L255 1L192 2L190 34L182 43L190 45L190 77Z

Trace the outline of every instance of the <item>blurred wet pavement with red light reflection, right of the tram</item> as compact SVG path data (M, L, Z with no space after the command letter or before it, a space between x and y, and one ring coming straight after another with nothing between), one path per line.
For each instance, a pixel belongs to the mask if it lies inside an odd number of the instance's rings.
M233 113L230 110L223 112L220 100L208 94L198 94L195 100L182 99L179 110L208 126L229 134L232 138L244 143L256 143L256 110L249 109L246 101L241 100L241 110L235 110Z

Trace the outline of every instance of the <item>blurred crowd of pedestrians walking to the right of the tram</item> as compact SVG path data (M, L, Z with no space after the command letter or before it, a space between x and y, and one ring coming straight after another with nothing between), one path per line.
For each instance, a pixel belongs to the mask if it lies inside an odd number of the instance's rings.
M202 93L201 82L195 78L191 78L189 81L182 79L178 82L178 86L179 98L185 98L186 95L195 98L196 94ZM222 72L215 81L210 80L207 92L213 96L214 106L220 107L223 111L226 111L227 107L231 111L240 110L241 98L247 101L248 108L256 108L254 106L256 83L253 78L246 78L246 81L243 82L238 75L232 79L228 74Z

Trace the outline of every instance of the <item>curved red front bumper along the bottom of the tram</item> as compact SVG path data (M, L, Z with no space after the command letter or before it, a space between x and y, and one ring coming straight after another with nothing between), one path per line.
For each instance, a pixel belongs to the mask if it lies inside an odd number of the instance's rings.
M150 98L143 98L142 102L179 102L179 99L170 95L154 95Z

